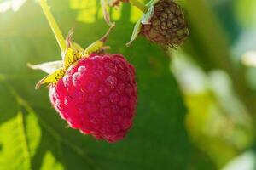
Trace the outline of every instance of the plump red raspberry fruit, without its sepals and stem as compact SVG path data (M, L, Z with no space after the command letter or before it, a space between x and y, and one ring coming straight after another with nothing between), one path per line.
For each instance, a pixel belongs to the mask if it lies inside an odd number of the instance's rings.
M49 97L70 127L116 142L125 137L135 116L135 70L120 54L90 54L50 86Z

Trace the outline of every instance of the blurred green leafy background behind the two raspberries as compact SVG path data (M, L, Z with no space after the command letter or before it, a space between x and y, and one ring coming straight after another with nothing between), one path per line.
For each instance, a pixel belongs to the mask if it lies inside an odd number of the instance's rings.
M108 29L97 0L48 2L63 34L74 28L84 47ZM61 59L38 2L0 0L0 170L256 169L256 69L241 64L256 50L256 1L177 3L190 36L168 50L143 37L126 48L141 13L110 10L109 52L135 65L138 104L130 133L108 144L67 127L47 88L34 89L45 74L26 63Z

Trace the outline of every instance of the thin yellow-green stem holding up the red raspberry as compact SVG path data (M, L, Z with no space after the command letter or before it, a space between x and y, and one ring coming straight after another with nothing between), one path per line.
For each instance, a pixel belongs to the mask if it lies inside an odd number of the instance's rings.
M55 34L55 38L61 48L61 51L65 52L65 50L66 50L65 38L62 36L61 30L60 30L58 24L56 23L55 18L51 14L51 12L49 10L49 6L46 3L46 0L40 0L40 5L44 11L44 15L45 15L46 19L49 22L49 26L50 26L51 30Z

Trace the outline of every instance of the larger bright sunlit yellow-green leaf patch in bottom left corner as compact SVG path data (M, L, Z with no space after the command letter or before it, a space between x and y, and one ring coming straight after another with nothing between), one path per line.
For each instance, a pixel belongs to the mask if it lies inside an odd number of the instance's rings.
M1 169L31 169L41 137L38 120L33 113L17 116L0 126Z

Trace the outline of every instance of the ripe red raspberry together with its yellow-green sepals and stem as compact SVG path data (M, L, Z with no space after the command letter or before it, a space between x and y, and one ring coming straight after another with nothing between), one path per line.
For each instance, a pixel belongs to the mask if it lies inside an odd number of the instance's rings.
M81 48L67 37L67 46L46 1L40 1L62 51L62 61L29 65L49 73L36 88L49 83L49 98L70 127L96 139L116 142L131 128L136 111L135 69L120 54L106 54L100 40Z

